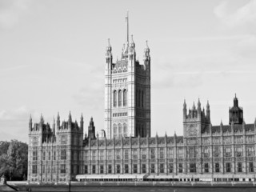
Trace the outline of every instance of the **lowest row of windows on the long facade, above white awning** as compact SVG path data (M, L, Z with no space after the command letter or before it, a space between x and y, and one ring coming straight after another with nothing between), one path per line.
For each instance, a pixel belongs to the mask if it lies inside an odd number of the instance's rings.
M177 167L178 173L183 173L183 171L184 171L183 170L183 163L178 163L177 166L178 166ZM134 174L138 173L138 164L133 164L132 170L129 170L129 167L130 167L129 164L124 164L122 173L129 174L130 171L132 171L132 173L134 173ZM99 168L98 168L99 169L99 174L105 174L105 173L121 174L121 165L119 165L119 164L115 165L115 173L114 173L112 165L107 165L106 172L104 171L104 168L105 168L104 165L99 165ZM174 163L169 163L168 166L166 167L166 170L167 170L168 173L174 173ZM189 167L188 167L188 170L189 170L190 173L197 173L198 170L197 170L196 163L194 163L194 162L190 163ZM149 171L150 171L150 173L155 173L156 165L154 163L150 164ZM210 171L209 163L204 163L203 164L203 171L204 171L204 173L209 173L209 171ZM238 173L242 173L242 162L237 163L236 171ZM254 172L254 162L249 162L248 171L250 173ZM142 172L142 174L147 173L146 164L141 165L141 172ZM158 164L158 172L159 173L165 173L165 164L164 163ZM214 172L215 173L220 172L220 165L219 165L218 162L214 163ZM226 173L231 172L231 163L230 162L226 162L225 172ZM89 174L89 166L87 166L87 165L85 166L84 174ZM97 174L96 165L91 166L91 174Z

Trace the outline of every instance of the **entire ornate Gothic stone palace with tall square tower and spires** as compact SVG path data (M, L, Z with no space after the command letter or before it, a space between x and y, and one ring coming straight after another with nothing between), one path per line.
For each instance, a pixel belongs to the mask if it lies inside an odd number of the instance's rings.
M127 26L128 26L128 18ZM183 136L150 132L150 48L136 59L129 38L113 62L110 41L105 55L105 129L96 134L90 118L53 125L29 122L28 182L78 181L256 181L256 122L246 124L234 97L229 124L212 126L210 104L181 106Z

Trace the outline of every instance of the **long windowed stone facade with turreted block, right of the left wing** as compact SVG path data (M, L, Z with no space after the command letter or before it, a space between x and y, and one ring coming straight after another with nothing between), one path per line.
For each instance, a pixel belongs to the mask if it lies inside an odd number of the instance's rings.
M200 101L197 108L192 106L192 110L188 114L186 112L184 103L184 136L88 138L83 150L84 174L254 178L255 122L212 126L210 105L207 103L205 114Z

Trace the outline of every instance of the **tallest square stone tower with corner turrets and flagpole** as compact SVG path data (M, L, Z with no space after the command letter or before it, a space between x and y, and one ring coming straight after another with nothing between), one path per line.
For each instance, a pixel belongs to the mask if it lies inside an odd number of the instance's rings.
M110 40L106 47L106 138L150 137L150 48L146 42L143 63L136 60L133 36L122 47L121 59L113 62Z

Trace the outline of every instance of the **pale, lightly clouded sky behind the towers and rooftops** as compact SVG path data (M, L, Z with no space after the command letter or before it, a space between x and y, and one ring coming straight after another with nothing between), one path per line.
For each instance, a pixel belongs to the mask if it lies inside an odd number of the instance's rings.
M114 61L130 34L151 55L151 133L182 135L182 106L210 102L228 123L234 94L246 123L256 117L256 1L0 0L0 140L28 141L30 114L52 124L93 116L104 129L107 38Z

